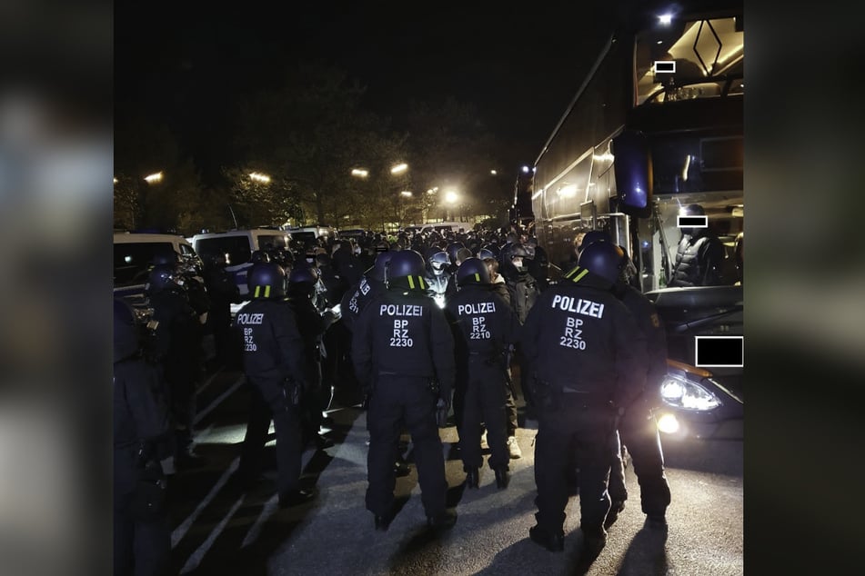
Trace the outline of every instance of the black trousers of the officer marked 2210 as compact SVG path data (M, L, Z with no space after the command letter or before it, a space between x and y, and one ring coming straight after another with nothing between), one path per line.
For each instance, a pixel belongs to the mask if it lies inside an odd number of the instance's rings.
M459 384L458 384L459 386ZM459 454L463 469L480 468L484 456L480 450L481 422L487 427L489 467L509 470L508 423L505 412L506 391L504 367L484 356L468 356L468 376L462 386L461 419L457 422Z

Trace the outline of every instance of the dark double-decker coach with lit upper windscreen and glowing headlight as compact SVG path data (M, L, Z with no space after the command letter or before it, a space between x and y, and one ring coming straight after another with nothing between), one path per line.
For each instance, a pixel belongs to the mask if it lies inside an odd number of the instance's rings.
M681 207L701 204L729 251L743 231L743 5L669 8L652 0L622 15L534 166L519 175L512 215L526 217L530 203L552 282L566 272L556 264L568 260L577 233L606 230L623 247L668 324L659 414L675 416L679 434L706 437L741 430L742 362L708 370L695 355L699 336L744 337L739 271L729 259L729 285L666 286Z

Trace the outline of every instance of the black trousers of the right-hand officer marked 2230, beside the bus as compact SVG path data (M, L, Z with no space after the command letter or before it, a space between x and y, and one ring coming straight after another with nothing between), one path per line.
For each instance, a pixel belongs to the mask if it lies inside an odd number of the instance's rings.
M562 532L568 479L578 462L581 528L593 537L604 532L610 504L609 436L614 422L608 408L586 405L583 394L561 393L552 407L538 406L535 518L541 528L553 534Z

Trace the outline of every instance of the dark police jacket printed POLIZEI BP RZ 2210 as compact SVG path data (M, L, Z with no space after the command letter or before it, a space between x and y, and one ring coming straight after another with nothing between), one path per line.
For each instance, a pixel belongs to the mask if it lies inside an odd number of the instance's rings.
M479 356L504 367L508 344L516 343L517 315L494 284L466 284L448 302L445 315L453 326L457 356Z

